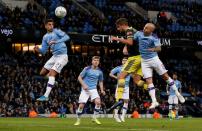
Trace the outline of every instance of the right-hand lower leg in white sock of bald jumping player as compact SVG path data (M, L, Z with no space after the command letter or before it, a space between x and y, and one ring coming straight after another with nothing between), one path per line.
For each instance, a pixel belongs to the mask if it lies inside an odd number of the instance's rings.
M168 75L168 73L162 74L163 79L168 83L168 85L175 91L176 96L179 98L181 103L185 102L184 97L179 93L174 80Z

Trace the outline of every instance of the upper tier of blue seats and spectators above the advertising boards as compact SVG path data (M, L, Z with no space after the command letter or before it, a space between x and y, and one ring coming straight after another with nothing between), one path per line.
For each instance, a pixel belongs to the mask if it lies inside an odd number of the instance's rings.
M96 8L104 13L105 18L96 14L89 15L69 0L35 0L46 9L46 14L41 14L36 4L28 3L25 10L16 7L14 10L1 8L1 27L43 30L45 18L55 18L58 25L67 32L78 33L104 33L115 34L114 22L117 18L125 17L129 23L138 30L142 30L149 20L132 12L125 4L127 0L89 0ZM130 1L130 0L128 0ZM156 22L159 37L166 38L191 38L202 39L201 3L176 0L141 0L137 1L146 10L171 12L177 20L166 19ZM67 16L63 19L56 18L54 9L62 5L67 9ZM159 15L158 15L159 16Z

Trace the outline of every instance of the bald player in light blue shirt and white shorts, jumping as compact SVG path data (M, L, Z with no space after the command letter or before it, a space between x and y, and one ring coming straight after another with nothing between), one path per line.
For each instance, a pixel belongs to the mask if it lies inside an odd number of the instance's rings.
M161 51L161 43L156 35L153 34L155 30L155 25L152 23L147 23L144 26L143 31L137 31L134 34L134 40L138 41L139 51L141 54L141 66L143 76L148 84L149 95L152 99L152 104L149 107L155 108L159 105L156 100L155 87L153 84L153 70L155 70L162 78L167 82L167 84L172 88L179 98L181 103L185 102L184 97L179 93L173 79L167 73L163 63L158 57L157 52Z

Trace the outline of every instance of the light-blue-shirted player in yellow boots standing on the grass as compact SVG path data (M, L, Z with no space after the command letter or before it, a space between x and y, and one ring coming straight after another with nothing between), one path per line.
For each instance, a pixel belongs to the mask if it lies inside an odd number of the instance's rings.
M97 91L97 83L99 81L99 87L101 94L105 95L103 89L103 72L99 69L100 57L94 56L92 58L92 65L85 67L80 73L78 80L81 84L81 94L79 96L79 107L77 109L77 121L74 125L80 125L80 117L83 113L85 103L91 98L91 101L95 103L95 109L93 114L93 121L96 124L101 124L97 119L101 107L100 96Z

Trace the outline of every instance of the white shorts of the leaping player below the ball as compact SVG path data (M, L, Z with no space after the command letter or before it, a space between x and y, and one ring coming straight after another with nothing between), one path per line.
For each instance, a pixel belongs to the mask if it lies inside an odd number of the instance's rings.
M44 68L47 70L53 69L56 72L60 73L62 68L67 64L68 56L67 54L63 55L53 55L44 65Z

